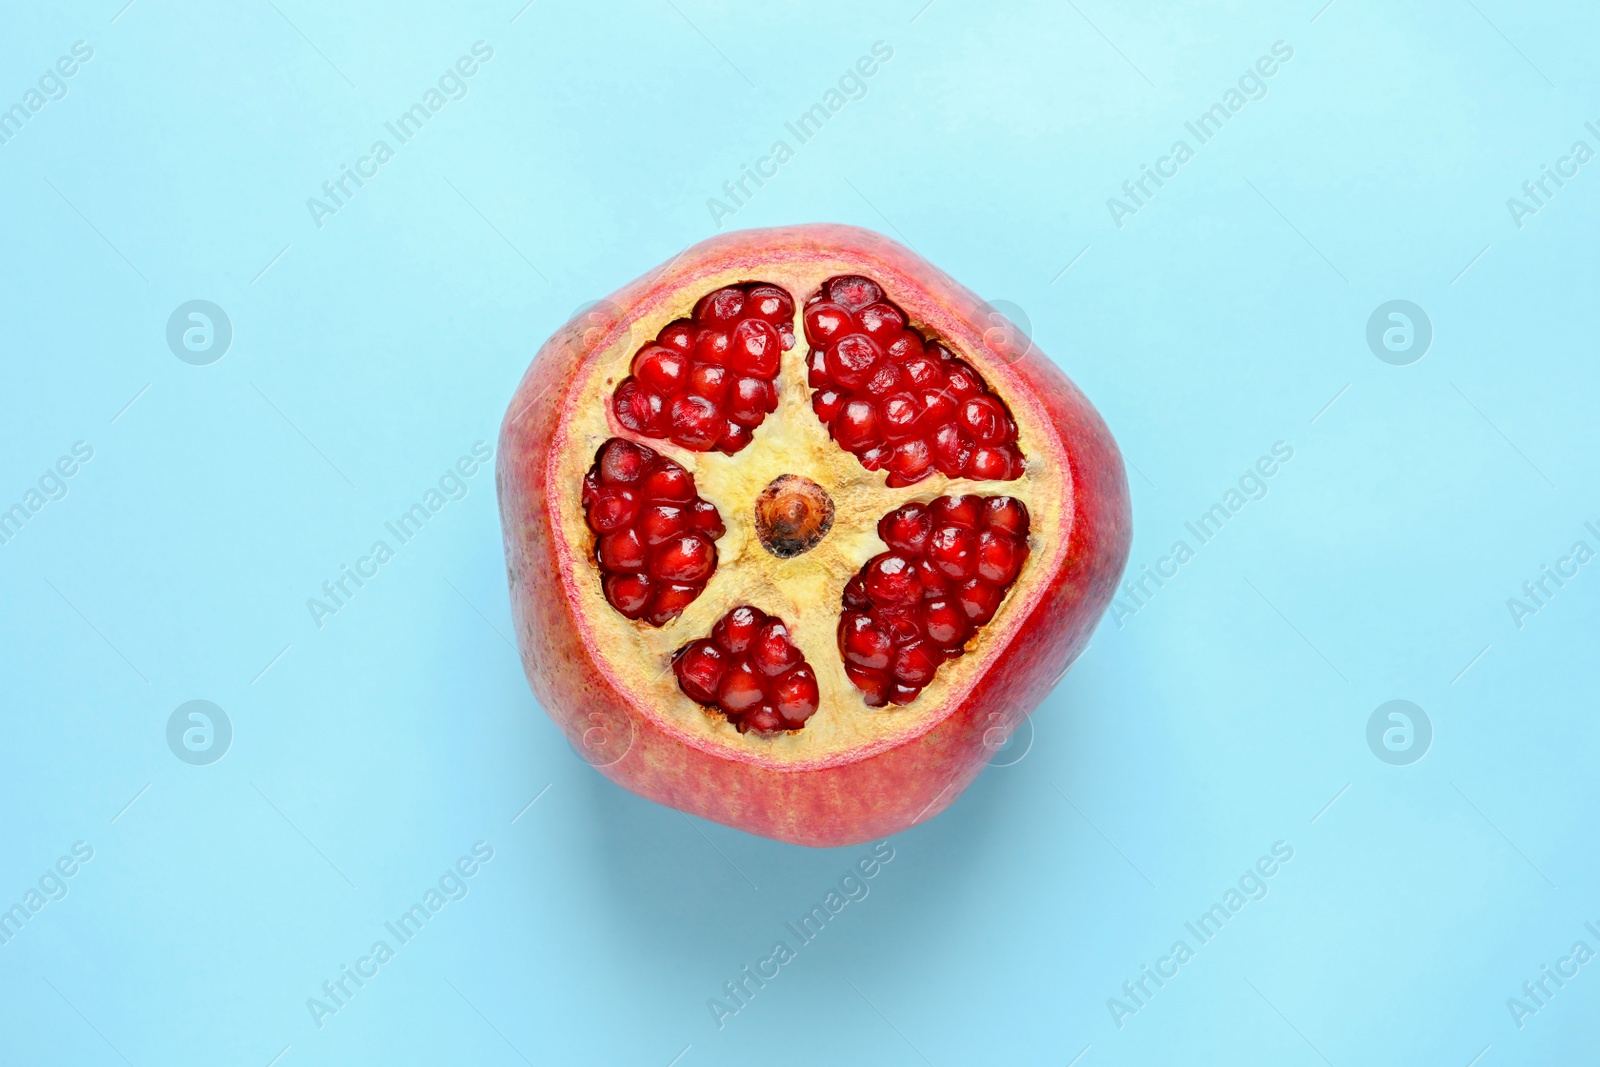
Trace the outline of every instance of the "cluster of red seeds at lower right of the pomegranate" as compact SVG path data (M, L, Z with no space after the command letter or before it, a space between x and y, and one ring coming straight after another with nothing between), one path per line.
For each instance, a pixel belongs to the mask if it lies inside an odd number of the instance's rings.
M909 704L963 654L1027 560L1027 507L1008 496L941 496L878 520L890 545L845 582L838 651L869 707Z

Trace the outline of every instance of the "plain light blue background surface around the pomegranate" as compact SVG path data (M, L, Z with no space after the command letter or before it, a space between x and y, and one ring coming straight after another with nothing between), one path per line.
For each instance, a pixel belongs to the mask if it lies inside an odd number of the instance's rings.
M0 1059L1592 1054L1600 963L1523 1029L1506 1003L1600 949L1600 565L1506 606L1600 545L1600 162L1520 229L1506 205L1600 149L1590 5L120 5L0 24L0 106L94 48L0 147L0 506L94 450L0 545L0 904L94 849L0 947ZM477 40L466 99L318 229L306 198ZM718 1029L707 998L867 849L578 760L507 643L490 472L322 629L306 600L877 40L866 98L723 227L874 227L1024 309L1131 464L1134 568L1294 458ZM1118 229L1107 197L1278 40L1269 94ZM1435 331L1408 366L1365 341L1397 298ZM189 299L234 326L210 366L165 342ZM166 747L190 699L234 725L210 766ZM1410 766L1366 744L1390 699L1435 729ZM318 1029L307 998L480 840L469 896ZM1275 841L1270 894L1118 1029L1107 998Z

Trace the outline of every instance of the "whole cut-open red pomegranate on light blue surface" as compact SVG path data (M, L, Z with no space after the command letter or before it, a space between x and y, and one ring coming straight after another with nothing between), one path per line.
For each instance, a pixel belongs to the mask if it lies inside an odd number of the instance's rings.
M717 237L602 309L546 342L501 429L534 694L616 782L752 833L931 817L1110 601L1110 432L867 230Z

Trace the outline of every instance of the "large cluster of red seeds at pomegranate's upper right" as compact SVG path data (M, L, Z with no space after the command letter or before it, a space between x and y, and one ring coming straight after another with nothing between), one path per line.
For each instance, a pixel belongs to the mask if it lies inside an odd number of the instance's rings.
M862 467L886 467L891 486L934 470L987 482L1022 475L1005 403L971 365L907 326L875 282L829 278L806 301L805 336L813 411Z

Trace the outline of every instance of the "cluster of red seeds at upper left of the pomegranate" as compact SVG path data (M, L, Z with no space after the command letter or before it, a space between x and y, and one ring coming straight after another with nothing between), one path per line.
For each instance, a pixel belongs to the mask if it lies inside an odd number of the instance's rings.
M632 434L693 451L738 453L750 443L749 430L778 408L773 381L794 341L794 298L781 288L746 282L715 290L694 304L691 318L640 347L611 410ZM762 389L741 394L736 382L744 379Z

